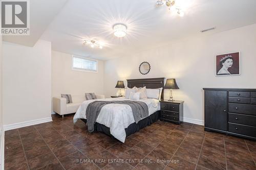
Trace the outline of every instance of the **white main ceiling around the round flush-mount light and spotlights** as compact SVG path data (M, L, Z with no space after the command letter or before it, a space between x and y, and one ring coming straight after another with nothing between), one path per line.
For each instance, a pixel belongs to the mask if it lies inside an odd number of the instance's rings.
M55 1L44 0L47 12ZM176 0L176 4L184 10L183 17L166 6L156 7L156 0L69 0L60 12L56 10L41 39L52 41L55 51L108 60L168 41L256 23L255 0ZM113 35L117 22L127 26L126 37ZM217 29L200 33L211 27ZM83 45L83 38L103 42L103 49Z

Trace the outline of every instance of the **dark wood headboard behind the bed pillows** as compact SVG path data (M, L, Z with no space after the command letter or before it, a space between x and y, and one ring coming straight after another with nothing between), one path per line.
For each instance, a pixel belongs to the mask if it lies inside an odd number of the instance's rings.
M133 88L136 87L144 87L146 88L161 88L164 87L164 79L165 78L152 78L152 79L129 79L127 80L127 87ZM161 94L161 100L163 100L163 90Z

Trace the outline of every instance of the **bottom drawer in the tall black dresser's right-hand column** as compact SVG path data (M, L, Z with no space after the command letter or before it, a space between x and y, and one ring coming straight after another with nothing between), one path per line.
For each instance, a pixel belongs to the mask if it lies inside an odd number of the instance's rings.
M256 137L256 127L228 123L228 131Z

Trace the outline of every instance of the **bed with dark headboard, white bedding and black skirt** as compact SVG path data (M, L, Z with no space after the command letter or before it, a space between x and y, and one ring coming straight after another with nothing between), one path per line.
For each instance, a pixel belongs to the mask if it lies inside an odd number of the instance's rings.
M163 88L164 78L153 79L130 79L127 80L127 87L133 88L144 87L146 88ZM163 99L163 90L161 93L161 99ZM94 101L123 101L127 100L124 97L112 98L112 99L100 99L84 101L74 115L74 123L77 119L81 119L84 123L86 120L86 108ZM103 132L107 135L111 135L121 142L125 141L125 138L140 129L151 125L156 122L160 117L160 102L157 99L141 99L148 106L148 116L141 119L138 124L135 123L132 109L128 105L123 104L109 104L102 107L98 118L96 120L94 131Z

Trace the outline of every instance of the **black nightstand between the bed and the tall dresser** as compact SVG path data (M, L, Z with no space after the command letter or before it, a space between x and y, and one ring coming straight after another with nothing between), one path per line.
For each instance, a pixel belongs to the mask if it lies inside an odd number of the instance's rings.
M181 124L183 122L184 101L160 101L160 120Z

